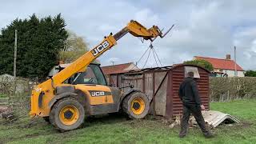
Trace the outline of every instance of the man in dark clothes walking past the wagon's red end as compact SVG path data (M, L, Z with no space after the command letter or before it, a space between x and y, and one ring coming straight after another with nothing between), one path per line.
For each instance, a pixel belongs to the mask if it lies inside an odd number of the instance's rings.
M205 138L212 138L213 135L206 129L206 123L202 117L201 110L205 110L205 106L201 103L198 86L194 80L194 73L188 72L187 75L188 77L185 78L178 90L179 98L183 102L183 116L179 137L184 138L186 136L190 114L192 113Z

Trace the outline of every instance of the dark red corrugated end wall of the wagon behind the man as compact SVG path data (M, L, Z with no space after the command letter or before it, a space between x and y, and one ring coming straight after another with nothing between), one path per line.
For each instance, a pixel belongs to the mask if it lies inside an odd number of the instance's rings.
M173 116L182 115L182 102L178 97L178 89L184 79L184 66L174 68L172 70L172 97L173 97ZM206 106L206 110L209 110L209 74L206 70L198 67L200 78L198 82L198 90L201 97L202 104Z

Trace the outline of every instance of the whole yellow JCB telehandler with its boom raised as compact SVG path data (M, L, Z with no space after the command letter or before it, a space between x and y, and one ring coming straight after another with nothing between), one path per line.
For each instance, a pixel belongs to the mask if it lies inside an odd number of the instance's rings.
M150 100L146 94L132 87L124 94L117 87L107 86L100 67L91 64L127 33L150 41L166 35L162 34L158 26L146 29L131 20L117 34L105 37L98 46L70 66L35 86L31 94L30 116L42 117L61 131L77 129L82 126L86 116L120 110L130 118L144 118L150 109Z

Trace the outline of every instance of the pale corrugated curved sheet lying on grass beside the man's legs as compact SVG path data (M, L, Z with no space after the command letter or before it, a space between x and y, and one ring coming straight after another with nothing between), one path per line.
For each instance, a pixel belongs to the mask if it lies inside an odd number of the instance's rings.
M202 111L202 116L205 119L206 123L210 125L211 127L217 127L221 123L235 123L235 122L240 122L237 118L234 118L230 114L224 114L220 111L214 111L214 110L209 110L209 111ZM194 117L192 118L192 123L196 124Z

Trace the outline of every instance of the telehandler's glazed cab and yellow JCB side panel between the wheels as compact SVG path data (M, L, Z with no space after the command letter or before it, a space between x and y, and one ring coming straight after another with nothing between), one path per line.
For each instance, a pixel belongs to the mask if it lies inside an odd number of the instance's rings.
M113 88L106 85L106 79L98 65L90 64L85 72L74 77L72 84L86 94L93 115L118 111L119 96Z

